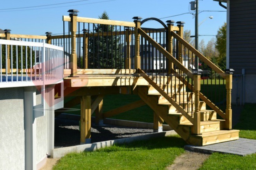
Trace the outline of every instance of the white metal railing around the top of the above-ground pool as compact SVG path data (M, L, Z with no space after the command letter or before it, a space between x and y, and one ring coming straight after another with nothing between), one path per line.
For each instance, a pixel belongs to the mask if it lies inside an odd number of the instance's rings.
M39 86L62 80L62 47L44 41L0 40L0 87Z

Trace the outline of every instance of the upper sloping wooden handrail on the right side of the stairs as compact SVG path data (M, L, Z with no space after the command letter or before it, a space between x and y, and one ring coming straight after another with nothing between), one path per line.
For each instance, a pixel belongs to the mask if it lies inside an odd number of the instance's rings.
M180 41L183 46L188 48L191 52L195 54L200 60L202 60L205 64L207 64L212 70L214 70L216 73L220 74L222 78L226 77L226 74L224 71L222 71L219 67L217 67L213 62L211 62L208 58L204 57L203 54L201 54L198 50L196 50L194 47L192 47L188 42L186 42L184 39L182 39L178 34L176 34L174 31L171 31L171 34L174 38L176 38L178 41Z

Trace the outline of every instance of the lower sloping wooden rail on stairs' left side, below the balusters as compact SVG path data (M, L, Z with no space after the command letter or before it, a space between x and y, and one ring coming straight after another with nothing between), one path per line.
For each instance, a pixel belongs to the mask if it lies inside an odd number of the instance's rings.
M168 102L170 102L185 118L187 118L192 124L194 119L178 104L172 97L170 97L161 87L159 87L148 75L141 69L138 69L138 73L142 76L152 87L154 87Z

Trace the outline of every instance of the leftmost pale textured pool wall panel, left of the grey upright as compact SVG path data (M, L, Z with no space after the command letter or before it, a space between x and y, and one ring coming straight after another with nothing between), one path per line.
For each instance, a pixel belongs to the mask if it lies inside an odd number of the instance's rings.
M0 169L24 169L24 145L24 89L0 88Z

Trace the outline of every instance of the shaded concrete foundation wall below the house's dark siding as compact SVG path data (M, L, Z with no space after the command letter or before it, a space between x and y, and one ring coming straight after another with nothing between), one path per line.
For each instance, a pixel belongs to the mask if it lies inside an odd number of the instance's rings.
M244 85L245 88L243 88L242 76L233 76L231 92L232 104L256 103L256 74L245 74ZM245 97L243 95L245 95Z

